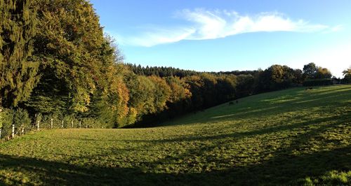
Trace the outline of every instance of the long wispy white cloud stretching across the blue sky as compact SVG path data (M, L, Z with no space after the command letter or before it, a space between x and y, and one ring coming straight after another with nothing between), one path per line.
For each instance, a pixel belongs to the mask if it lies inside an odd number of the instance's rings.
M123 40L127 41L125 43L128 45L151 47L182 40L225 38L259 31L330 32L342 29L340 25L329 27L324 24L311 24L305 20L294 21L282 13L240 15L228 10L186 9L176 13L176 17L186 20L188 24L177 28L156 26L140 36L123 38Z

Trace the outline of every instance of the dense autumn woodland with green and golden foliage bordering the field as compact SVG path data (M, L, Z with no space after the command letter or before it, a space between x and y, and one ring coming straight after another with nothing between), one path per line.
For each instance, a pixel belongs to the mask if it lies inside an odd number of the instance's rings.
M124 64L84 0L0 0L0 9L3 135L51 119L55 127L147 126L251 94L333 83L314 63L220 73ZM350 83L351 69L344 74Z

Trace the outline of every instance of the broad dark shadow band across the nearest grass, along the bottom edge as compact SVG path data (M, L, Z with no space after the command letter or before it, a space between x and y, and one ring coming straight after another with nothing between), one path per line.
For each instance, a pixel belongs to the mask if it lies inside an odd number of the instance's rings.
M39 185L262 185L286 184L328 171L350 171L351 146L293 156L277 156L262 164L201 173L150 173L141 168L73 166L25 157L0 156L0 185L23 184L23 174ZM162 163L162 162L158 162ZM14 177L17 175L18 177Z

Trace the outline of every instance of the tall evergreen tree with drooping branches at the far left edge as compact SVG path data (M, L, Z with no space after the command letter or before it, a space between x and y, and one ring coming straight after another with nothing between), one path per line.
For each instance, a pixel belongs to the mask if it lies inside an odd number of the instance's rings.
M32 57L36 11L30 0L0 0L0 105L15 107L37 85L39 63Z

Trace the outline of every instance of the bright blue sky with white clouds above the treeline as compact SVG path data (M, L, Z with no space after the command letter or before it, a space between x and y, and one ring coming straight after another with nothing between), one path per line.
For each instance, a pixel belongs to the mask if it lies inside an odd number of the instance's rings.
M91 0L125 62L195 71L351 67L350 0Z

